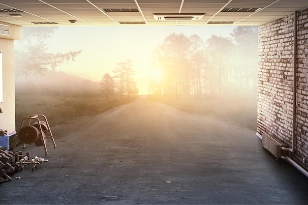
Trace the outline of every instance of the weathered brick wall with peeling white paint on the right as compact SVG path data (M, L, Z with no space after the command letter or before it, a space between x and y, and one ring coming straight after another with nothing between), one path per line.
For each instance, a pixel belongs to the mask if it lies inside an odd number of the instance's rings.
M308 170L308 8L298 11L296 151ZM293 134L294 13L259 26L258 125L288 147ZM305 162L303 162L303 159Z

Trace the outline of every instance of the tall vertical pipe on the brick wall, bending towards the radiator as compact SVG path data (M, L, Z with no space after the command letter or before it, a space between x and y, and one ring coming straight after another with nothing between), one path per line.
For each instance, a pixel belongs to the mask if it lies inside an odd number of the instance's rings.
M297 11L294 11L294 41L293 41L293 128L292 128L292 148L281 147L282 150L294 152L296 141L296 92L297 92Z

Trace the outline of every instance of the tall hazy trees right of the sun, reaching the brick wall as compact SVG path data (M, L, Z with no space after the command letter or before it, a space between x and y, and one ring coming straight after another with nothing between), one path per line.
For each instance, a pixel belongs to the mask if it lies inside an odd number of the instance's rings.
M246 97L255 94L257 27L235 27L230 37L172 33L153 52L161 79L150 79L149 91L179 98Z

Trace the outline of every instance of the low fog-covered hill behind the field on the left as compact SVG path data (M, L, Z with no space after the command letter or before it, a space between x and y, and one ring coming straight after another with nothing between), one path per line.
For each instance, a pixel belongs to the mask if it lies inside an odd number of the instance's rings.
M99 93L99 82L72 76L64 72L48 70L43 76L18 76L15 79L16 94L34 95L93 95Z

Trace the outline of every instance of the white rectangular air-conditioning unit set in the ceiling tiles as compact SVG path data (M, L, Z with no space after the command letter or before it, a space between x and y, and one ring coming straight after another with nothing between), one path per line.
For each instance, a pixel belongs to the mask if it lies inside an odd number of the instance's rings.
M156 13L153 14L155 20L160 21L194 21L200 20L205 13Z

